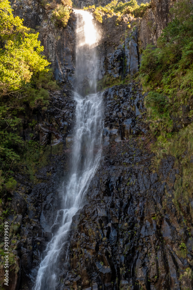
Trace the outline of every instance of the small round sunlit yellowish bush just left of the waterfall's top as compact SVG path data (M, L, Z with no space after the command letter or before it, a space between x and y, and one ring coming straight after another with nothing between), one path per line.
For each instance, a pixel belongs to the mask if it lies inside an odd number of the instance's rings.
M51 20L55 23L56 27L66 28L68 19L70 18L71 10L67 6L58 5L52 12Z

